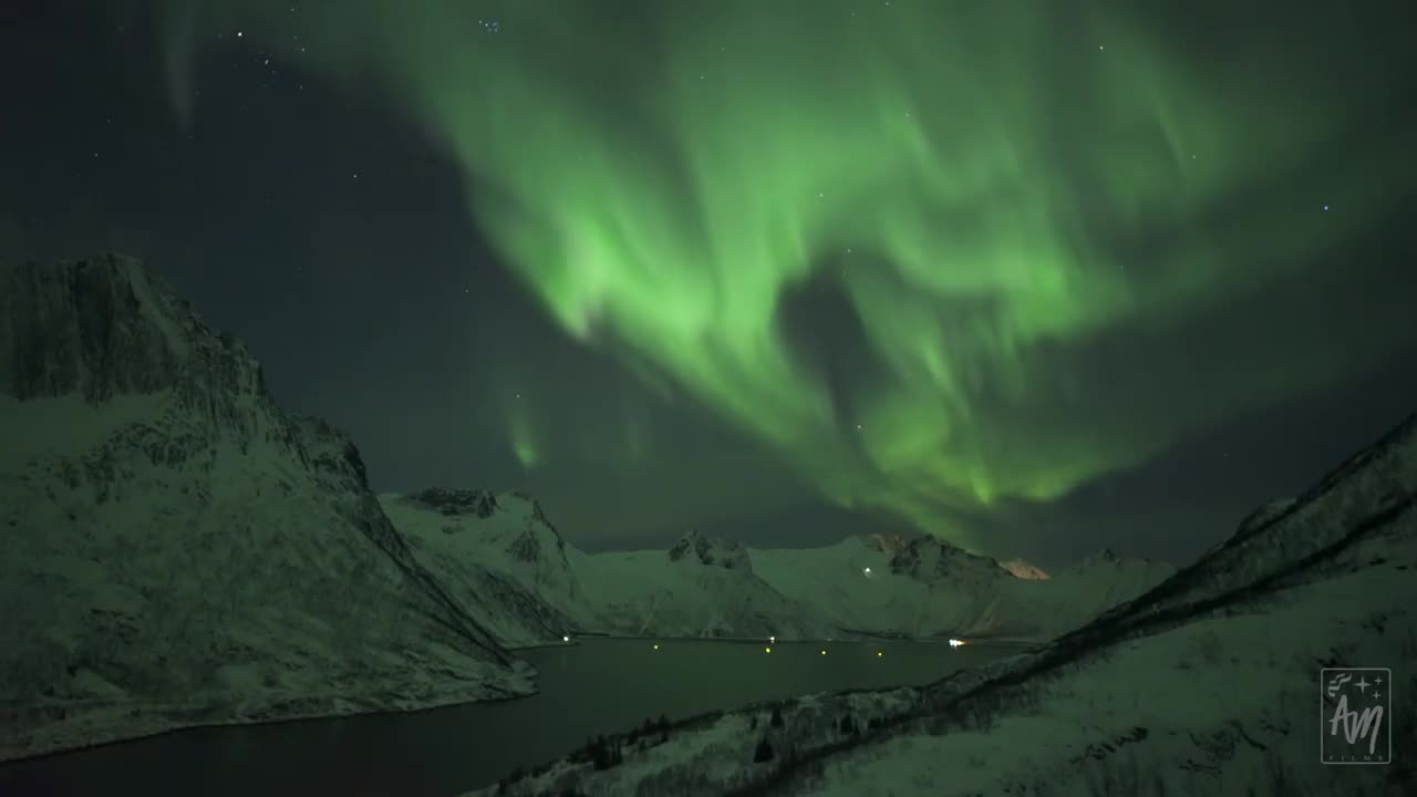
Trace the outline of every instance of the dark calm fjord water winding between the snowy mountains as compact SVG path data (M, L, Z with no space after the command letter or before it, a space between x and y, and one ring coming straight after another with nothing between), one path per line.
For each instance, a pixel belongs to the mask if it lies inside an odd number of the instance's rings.
M521 651L540 692L415 713L197 728L0 766L0 794L456 794L625 730L819 691L917 685L1010 648L587 640ZM823 655L822 651L826 651Z

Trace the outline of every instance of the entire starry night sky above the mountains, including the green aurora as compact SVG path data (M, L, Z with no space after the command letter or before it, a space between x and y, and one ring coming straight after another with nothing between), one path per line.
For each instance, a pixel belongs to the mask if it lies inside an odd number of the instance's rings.
M1185 562L1417 408L1403 6L11 0L0 257L587 549Z

